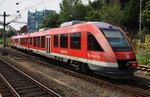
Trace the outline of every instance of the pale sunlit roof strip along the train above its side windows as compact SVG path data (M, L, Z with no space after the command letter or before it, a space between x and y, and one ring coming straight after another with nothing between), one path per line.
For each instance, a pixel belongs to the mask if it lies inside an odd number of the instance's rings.
M50 33L59 33L60 30L62 33L66 33L66 30L69 31L69 32L74 32L74 31L77 31L77 29L80 28L80 30L85 30L85 29L90 29L91 27L87 25L91 25L91 26L95 26L97 28L106 28L106 29L118 29L116 26L113 26L109 23L105 23L105 22L82 22L82 23L79 23L79 24L73 24L71 26L64 26L64 27L59 27L59 28L53 28L53 29L49 29L49 30L45 30L45 31L39 31L39 32L34 32L34 33L27 33L27 34L21 34L21 35L17 35L17 36L13 36L14 38L20 38L20 37L28 37L29 35L31 36L45 36L45 35L48 35ZM85 27L86 26L86 27Z

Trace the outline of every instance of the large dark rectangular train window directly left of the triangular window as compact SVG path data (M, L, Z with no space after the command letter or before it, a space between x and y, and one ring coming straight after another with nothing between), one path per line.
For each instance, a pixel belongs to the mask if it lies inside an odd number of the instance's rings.
M81 32L71 33L70 38L71 38L70 48L81 49Z

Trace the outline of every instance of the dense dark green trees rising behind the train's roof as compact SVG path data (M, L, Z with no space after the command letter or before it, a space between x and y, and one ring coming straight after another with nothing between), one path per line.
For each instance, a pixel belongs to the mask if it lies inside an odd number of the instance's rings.
M110 5L109 0L89 0L84 5L82 0L62 0L60 13L47 17L43 27L58 27L63 22L72 20L81 21L103 21L121 26L129 31L130 35L137 34L139 28L140 0L126 0L123 7ZM146 6L144 5L146 3ZM150 1L143 1L142 28L149 29L150 25ZM145 30L148 31L148 30ZM136 33L130 33L136 32Z

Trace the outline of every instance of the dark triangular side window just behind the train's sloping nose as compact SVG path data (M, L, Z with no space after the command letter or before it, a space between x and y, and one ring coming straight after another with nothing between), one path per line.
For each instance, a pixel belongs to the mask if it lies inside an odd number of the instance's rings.
M87 40L88 40L88 50L103 51L102 47L100 46L96 38L90 32L88 32Z

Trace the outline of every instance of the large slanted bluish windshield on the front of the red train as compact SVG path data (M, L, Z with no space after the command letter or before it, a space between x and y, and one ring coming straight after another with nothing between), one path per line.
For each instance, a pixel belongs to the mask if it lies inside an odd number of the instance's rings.
M124 35L116 29L101 29L103 34L106 36L112 49L116 52L127 52L132 51L132 48L124 37Z

